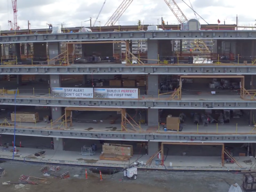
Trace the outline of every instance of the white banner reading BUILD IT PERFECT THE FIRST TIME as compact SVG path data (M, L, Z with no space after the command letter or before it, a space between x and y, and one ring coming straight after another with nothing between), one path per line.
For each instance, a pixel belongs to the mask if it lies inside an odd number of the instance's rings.
M125 88L94 88L94 98L138 99L139 91Z

